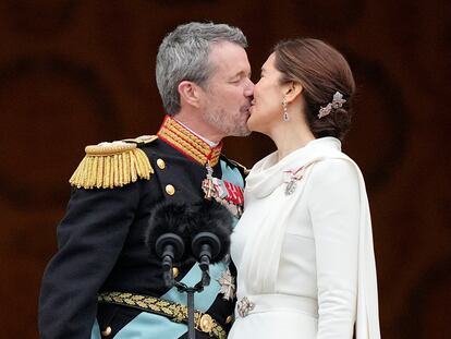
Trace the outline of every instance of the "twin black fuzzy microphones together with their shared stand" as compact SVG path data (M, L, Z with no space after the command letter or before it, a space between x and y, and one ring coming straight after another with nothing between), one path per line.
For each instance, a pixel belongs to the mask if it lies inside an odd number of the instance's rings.
M157 207L149 221L150 232L146 234L146 244L150 246L151 252L155 246L155 253L161 258L164 286L167 288L175 287L179 292L186 292L188 339L195 339L194 293L202 292L204 287L210 283L209 265L212 259L218 258L221 252L220 238L224 238L228 245L230 243L232 218L226 207L220 204L207 204L188 210L185 207L176 204L162 204ZM200 218L198 214L203 217ZM171 217L168 218L168 216ZM210 231L210 223L215 226L214 219L218 218L221 227L218 227L220 231L216 234ZM176 221L178 219L179 221ZM180 225L180 222L182 223ZM194 227L192 222L199 225ZM214 227L214 229L216 228ZM200 280L194 287L176 281L172 271L172 263L184 257L186 235L193 237L191 247L202 271ZM157 239L155 244L150 241L151 239Z

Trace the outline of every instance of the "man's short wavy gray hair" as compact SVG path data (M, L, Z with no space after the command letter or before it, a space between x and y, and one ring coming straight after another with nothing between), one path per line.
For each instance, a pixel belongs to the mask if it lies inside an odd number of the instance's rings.
M243 48L247 40L240 28L227 24L192 22L178 26L162 40L157 55L157 86L168 114L180 111L179 84L191 81L205 87L210 76L210 45L229 41Z

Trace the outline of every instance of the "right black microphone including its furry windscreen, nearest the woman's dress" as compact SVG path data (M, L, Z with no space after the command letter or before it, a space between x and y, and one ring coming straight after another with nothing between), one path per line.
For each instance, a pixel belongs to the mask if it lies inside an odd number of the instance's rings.
M233 218L231 213L216 201L203 201L193 206L194 222L188 230L192 251L203 271L210 264L221 262L229 253Z

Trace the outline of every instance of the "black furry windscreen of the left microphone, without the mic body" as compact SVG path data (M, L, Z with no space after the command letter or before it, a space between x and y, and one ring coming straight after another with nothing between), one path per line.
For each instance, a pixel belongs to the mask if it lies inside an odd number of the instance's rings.
M191 214L185 204L163 202L158 204L151 211L147 230L145 232L145 243L150 254L156 255L156 242L158 238L166 233L174 233L182 238L185 244L190 243L188 226L193 223ZM191 250L185 246L183 257L191 255Z

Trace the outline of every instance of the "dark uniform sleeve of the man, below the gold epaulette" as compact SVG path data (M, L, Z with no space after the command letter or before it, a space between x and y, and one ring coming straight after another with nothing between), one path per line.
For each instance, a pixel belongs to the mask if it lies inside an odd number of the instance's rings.
M113 190L74 190L58 226L58 252L39 298L41 339L87 339L97 293L121 252L138 205L138 183Z

